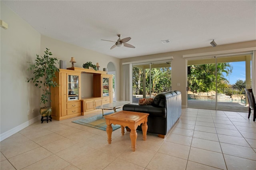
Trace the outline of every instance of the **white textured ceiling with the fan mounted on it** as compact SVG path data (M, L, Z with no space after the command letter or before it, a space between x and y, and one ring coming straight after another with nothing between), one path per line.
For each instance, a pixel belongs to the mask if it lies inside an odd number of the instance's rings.
M3 2L45 36L117 58L256 40L255 0ZM117 34L136 48L101 41Z

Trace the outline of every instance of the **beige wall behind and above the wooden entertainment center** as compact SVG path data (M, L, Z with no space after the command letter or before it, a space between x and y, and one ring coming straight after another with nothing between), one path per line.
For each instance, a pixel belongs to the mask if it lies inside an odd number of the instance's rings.
M111 57L109 55L105 55L102 53L98 53L96 51L92 51L90 49L85 49L70 43L65 43L47 36L41 36L41 53L44 52L45 48L50 48L52 51L52 56L57 57L59 60L66 61L67 68L71 67L71 63L69 62L71 57L75 57L76 63L74 63L74 67L83 67L83 64L87 61L91 61L92 64L99 63L99 70L103 71L103 68L107 68L108 63L112 62L116 67L116 77L119 77L120 73L120 59L116 57ZM57 65L59 68L59 65ZM82 96L81 97L92 97L92 76L90 75L82 75ZM89 82L89 83L88 83ZM120 79L116 79L116 83L120 84ZM116 87L117 94L119 92L119 86ZM119 98L118 98L119 99Z

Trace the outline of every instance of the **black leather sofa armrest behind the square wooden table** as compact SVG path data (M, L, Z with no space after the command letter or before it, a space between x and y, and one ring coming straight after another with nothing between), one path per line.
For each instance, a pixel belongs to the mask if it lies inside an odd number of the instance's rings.
M126 104L123 106L123 111L133 111L140 113L149 113L149 117L163 117L166 118L166 108L154 107L152 105L133 105Z

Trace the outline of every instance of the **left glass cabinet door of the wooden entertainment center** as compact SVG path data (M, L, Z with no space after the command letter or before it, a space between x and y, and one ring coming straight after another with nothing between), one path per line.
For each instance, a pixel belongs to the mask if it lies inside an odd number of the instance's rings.
M68 101L79 99L79 77L80 75L67 75L68 79Z

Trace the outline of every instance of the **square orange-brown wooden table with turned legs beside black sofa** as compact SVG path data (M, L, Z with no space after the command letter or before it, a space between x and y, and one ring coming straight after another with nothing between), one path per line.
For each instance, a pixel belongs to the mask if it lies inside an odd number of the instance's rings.
M106 132L108 134L108 144L111 144L111 136L112 136L112 126L121 125L121 133L124 135L124 127L129 127L131 129L130 139L132 142L132 151L136 149L136 140L137 140L137 127L142 124L142 134L143 140L147 139L147 130L148 130L148 113L140 113L140 112L131 112L131 111L119 111L110 115L106 115Z

